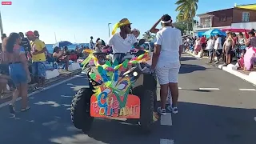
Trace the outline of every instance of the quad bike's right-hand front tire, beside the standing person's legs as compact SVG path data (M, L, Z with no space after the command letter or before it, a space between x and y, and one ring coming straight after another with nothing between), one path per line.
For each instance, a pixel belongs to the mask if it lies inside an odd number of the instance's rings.
M145 90L143 86L138 86L134 88L133 94L137 95L141 101L139 124L144 132L149 133L153 125L154 91Z

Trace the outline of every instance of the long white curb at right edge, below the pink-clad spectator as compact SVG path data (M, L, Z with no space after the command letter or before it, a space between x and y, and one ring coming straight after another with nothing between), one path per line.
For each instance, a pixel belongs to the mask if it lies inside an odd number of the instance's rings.
M256 85L256 76L254 76L254 74L249 74L249 75L242 74L242 73L238 72L237 70L232 70L232 69L229 69L227 66L222 66L222 65L219 65L218 68L221 70L224 70L230 74L233 74L234 76L236 76L238 78L242 78L246 82L250 82L250 83Z

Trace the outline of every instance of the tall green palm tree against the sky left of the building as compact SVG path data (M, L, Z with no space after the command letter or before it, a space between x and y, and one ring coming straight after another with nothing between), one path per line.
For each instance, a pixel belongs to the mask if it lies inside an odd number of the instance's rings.
M198 10L198 0L178 0L175 4L178 5L176 8L176 11L179 12L178 20L187 21L192 24Z

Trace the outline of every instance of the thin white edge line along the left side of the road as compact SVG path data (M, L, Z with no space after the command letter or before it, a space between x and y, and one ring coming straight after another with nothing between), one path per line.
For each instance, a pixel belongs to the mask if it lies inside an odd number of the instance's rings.
M53 85L47 86L44 90L48 90L48 89L50 89L50 88L53 88L54 86L61 85L62 83L68 82L68 81L70 81L70 80L72 80L72 79L74 79L74 78L77 78L77 77L81 76L81 75L82 75L82 74L75 75L74 77L67 78L66 80L63 80L62 82L58 82L58 83L55 83L55 84L53 84ZM34 91L34 92L28 94L28 97L30 97L30 96L32 96L32 95L34 95L34 94L38 94L39 92L42 92L42 91L44 91L44 90L40 90L40 91L37 90L37 91ZM16 102L19 101L19 100L21 100L21 99L22 99L21 97L17 98ZM10 104L10 101L9 101L9 102L5 102L5 103L2 103L2 104L0 105L0 108L3 107L3 106L9 105L9 104Z

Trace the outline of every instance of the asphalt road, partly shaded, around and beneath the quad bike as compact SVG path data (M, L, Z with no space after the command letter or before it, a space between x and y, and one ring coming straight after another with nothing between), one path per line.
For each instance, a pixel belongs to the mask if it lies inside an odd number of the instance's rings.
M84 76L30 96L31 109L13 118L0 108L3 144L254 144L256 87L206 62L183 54L178 114L162 116L151 134L138 126L96 119L89 134L74 128L70 102L86 85ZM17 108L19 108L17 102Z

